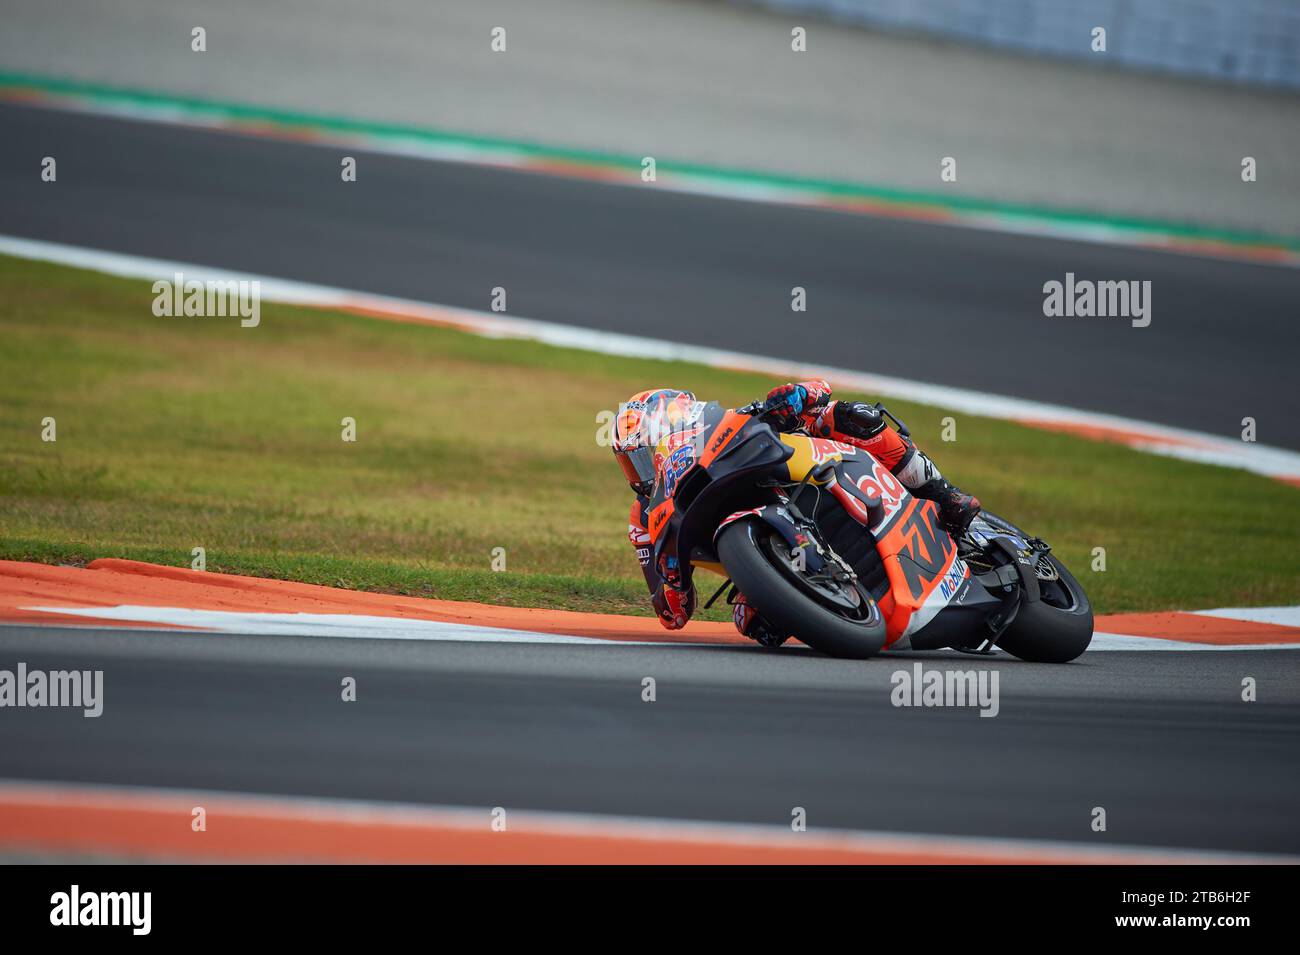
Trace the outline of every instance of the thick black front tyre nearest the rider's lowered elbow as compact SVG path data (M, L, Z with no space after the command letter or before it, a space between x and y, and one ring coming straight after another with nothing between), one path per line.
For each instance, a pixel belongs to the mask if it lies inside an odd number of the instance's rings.
M736 521L718 537L727 576L772 626L831 656L864 660L885 643L885 621L861 587L840 595L829 585L800 579L792 567L777 568L783 548L774 531Z

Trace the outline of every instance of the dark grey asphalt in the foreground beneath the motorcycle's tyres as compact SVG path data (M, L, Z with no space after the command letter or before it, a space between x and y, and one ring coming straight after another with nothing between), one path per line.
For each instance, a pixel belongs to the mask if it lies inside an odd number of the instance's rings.
M103 669L104 713L5 709L3 778L1300 851L1294 651L1045 667L0 628L0 668L18 660ZM998 715L893 707L890 674L918 660L996 668Z

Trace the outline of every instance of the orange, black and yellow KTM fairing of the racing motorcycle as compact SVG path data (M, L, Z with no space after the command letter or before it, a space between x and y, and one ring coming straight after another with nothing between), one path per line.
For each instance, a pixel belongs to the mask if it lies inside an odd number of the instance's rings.
M976 644L1004 607L1002 589L976 582L958 556L937 507L863 447L781 434L760 416L708 403L660 443L655 461L651 559L675 559L685 583L697 568L725 576L715 541L753 520L814 574L828 560L850 567L884 617L885 648Z

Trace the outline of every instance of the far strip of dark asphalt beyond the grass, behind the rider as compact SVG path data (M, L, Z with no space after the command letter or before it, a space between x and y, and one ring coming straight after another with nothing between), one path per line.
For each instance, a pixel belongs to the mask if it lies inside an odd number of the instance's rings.
M0 129L5 234L484 311L502 286L530 318L1300 448L1300 269L364 153L343 183L356 151L30 107ZM1150 281L1152 325L1044 317L1067 272Z

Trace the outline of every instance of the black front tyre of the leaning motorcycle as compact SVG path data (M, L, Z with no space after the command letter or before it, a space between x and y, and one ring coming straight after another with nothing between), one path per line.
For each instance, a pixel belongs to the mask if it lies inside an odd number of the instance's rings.
M841 617L807 596L764 556L766 525L741 520L718 537L718 556L745 599L781 633L831 656L866 660L885 643L885 621L872 608L870 622ZM863 595L864 599L871 598Z

